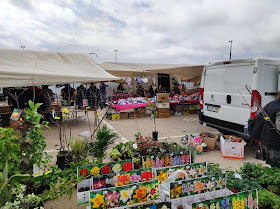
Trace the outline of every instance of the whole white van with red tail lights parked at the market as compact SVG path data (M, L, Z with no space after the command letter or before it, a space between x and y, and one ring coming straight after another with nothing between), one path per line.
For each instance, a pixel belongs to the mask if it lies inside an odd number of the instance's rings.
M280 59L262 58L206 65L201 78L200 123L249 139L258 103L264 107L277 97L279 65Z

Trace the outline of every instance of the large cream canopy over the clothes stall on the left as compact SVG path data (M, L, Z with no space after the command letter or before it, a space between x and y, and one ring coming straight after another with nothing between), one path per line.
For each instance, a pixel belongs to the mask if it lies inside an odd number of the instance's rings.
M89 54L0 49L0 87L118 79Z

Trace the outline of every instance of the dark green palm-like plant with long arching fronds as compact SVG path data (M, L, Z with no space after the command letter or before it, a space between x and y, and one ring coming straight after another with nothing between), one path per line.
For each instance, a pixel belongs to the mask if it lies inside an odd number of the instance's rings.
M103 125L102 129L97 130L92 147L93 152L96 154L97 162L102 162L106 157L106 150L118 137L118 133L108 129L106 125Z

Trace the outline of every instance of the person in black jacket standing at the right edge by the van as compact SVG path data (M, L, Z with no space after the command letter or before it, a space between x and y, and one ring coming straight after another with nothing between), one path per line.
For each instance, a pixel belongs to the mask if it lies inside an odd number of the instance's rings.
M280 91L278 92L277 100L268 103L264 107L264 112L266 112L273 124L275 124L276 120L279 120L276 115L280 112ZM251 137L261 142L266 152L267 163L280 167L280 135L263 113L259 114ZM275 164L277 161L279 161L278 165L277 163Z

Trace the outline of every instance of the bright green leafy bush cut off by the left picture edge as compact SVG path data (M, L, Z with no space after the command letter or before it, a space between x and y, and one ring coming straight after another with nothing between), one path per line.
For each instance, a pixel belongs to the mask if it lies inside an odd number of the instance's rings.
M21 148L19 135L11 128L0 127L0 170L3 170L7 161L9 174L20 173Z

